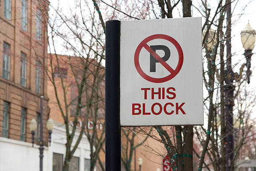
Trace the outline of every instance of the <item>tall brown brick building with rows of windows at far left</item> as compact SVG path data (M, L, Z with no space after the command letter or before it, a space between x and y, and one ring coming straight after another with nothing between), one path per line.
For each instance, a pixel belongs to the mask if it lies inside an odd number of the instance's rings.
M44 124L48 119L47 79L42 67L47 63L47 25L44 17L44 11L48 11L47 9L48 3L41 0L0 0L2 152L9 148L9 144L22 146L24 151L29 151L25 150L25 147L31 146L29 122L32 118L39 122L40 96L44 96ZM43 131L46 139L46 126ZM36 131L36 137L39 137L38 132L39 129ZM5 149L2 149L3 147ZM38 149L36 151L38 152ZM12 161L19 156L12 156L11 161L8 161L6 155L0 155L0 170L8 171ZM26 158L23 162L26 162L25 160ZM14 168L10 168L12 169Z

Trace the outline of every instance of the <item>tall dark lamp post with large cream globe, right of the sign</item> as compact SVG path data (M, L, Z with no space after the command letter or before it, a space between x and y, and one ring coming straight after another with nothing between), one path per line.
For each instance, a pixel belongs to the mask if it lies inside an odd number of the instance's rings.
M227 16L230 15L230 9L228 8ZM228 18L228 17L227 17ZM229 25L231 25L231 19L229 17ZM229 28L229 27L228 27ZM227 29L228 29L227 28ZM226 162L227 167L226 170L230 171L233 169L233 150L234 150L234 138L232 135L233 131L233 105L234 105L234 89L235 85L233 84L233 80L239 80L242 76L243 65L240 68L240 76L237 73L234 73L231 67L231 29L229 28L229 33L227 33L227 68L225 71L225 117L226 117L226 133L229 133L226 136ZM246 28L241 31L241 42L243 44L243 48L245 49L244 55L246 56L246 75L247 75L247 83L250 83L251 76L251 55L252 50L254 48L256 32L251 28L250 24L246 25Z

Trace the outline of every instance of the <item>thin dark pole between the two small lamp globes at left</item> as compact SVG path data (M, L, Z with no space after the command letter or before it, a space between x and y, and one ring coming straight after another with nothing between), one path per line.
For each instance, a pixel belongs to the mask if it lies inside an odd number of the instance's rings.
M40 115L40 141L39 141L39 157L40 157L40 171L43 171L43 157L44 157L44 141L43 141L43 100L44 96L41 96L41 115Z

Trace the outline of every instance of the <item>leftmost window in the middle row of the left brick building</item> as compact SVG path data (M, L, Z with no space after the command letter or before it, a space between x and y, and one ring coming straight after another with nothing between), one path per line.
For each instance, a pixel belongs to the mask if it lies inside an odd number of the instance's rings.
M10 45L5 42L3 47L3 78L10 79Z

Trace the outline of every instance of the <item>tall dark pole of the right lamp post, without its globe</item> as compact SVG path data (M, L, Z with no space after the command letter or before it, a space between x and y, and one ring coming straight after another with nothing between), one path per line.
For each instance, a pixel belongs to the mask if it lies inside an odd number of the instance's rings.
M233 138L233 106L234 106L234 72L231 63L231 0L228 0L227 7L227 30L226 30L226 48L227 48L227 63L225 70L225 118L226 118L226 171L233 170L234 157L234 138Z

